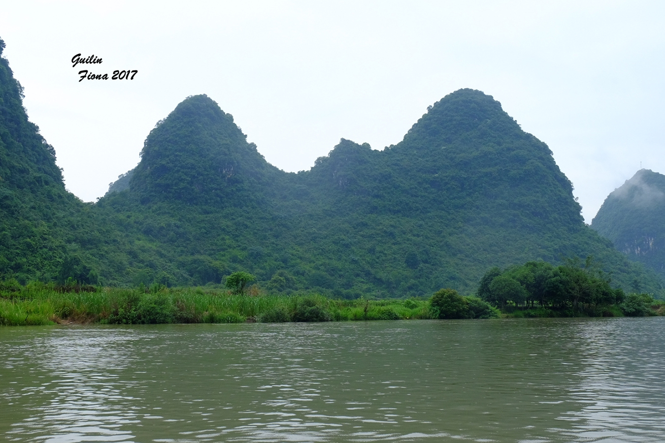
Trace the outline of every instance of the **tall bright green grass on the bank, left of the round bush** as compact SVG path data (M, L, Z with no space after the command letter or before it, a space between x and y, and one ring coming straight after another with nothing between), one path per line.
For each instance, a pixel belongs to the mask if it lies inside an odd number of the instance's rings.
M423 300L332 300L320 294L252 296L204 288L83 289L35 283L0 290L0 325L432 318L430 305Z

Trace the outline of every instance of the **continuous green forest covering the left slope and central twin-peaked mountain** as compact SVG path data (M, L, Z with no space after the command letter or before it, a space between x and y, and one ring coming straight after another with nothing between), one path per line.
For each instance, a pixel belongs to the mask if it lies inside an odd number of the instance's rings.
M470 293L491 266L593 254L613 285L662 291L585 226L547 145L476 90L431 106L397 145L342 139L297 174L192 96L87 204L65 190L5 58L0 71L2 279L172 287L245 272L271 294L422 298Z

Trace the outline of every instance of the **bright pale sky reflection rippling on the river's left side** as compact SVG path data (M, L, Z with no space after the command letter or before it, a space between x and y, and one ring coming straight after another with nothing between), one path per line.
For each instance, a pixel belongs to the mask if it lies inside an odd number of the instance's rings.
M136 333L53 329L19 347L21 357L13 358L24 363L28 380L15 396L32 414L12 425L8 440L132 441L126 425L140 422L138 399L124 391L136 382L118 375L130 361L130 348L124 345L136 339L132 335Z

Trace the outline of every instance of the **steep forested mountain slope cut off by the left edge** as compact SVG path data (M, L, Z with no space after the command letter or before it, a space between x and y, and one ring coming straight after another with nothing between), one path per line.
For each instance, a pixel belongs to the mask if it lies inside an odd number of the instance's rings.
M0 40L0 55L5 43ZM66 191L55 149L29 122L23 88L0 57L0 280L122 284L134 250L94 205ZM134 258L132 258L134 257Z

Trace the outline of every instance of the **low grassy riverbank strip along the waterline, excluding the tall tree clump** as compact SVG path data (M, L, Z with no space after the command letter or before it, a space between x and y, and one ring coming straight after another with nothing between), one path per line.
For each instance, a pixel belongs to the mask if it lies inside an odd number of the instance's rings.
M665 302L629 294L622 304L504 306L442 290L429 299L335 300L321 294L235 294L219 288L102 288L33 282L0 286L0 325L280 323L400 319L665 315Z

